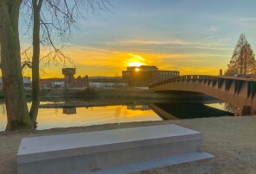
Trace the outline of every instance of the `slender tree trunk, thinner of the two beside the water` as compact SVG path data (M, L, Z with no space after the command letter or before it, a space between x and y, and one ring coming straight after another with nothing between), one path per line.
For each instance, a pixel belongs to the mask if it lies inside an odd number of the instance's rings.
M42 2L41 2L42 3ZM39 58L40 58L40 9L41 3L37 5L33 0L33 57L32 57L32 106L29 111L30 119L36 127L36 117L40 104L40 77L39 77Z

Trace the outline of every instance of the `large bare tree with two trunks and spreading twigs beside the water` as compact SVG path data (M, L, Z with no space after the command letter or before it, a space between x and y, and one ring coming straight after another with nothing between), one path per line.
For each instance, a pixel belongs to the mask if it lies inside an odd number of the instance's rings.
M0 0L3 90L8 115L6 130L34 128L40 104L40 61L60 59L65 62L68 58L61 50L63 45L57 46L69 39L72 28L77 28L81 19L106 10L109 5L107 0ZM24 9L23 18L33 32L32 61L24 65L21 65L18 29L21 8ZM41 46L48 47L48 53L43 57L40 57ZM32 106L29 111L22 84L22 67L25 65L32 67Z

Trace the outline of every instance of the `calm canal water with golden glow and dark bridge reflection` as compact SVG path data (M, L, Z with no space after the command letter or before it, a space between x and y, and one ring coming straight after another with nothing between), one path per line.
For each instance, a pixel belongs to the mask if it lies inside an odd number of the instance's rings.
M43 104L43 103L41 103ZM30 106L30 103L28 103ZM39 109L37 122L38 130L54 127L80 127L106 123L121 124L131 121L162 121L172 119L189 119L233 115L224 111L225 103L214 104L175 104L157 103L144 105L114 105L80 108L51 108ZM7 124L4 103L0 103L0 131Z

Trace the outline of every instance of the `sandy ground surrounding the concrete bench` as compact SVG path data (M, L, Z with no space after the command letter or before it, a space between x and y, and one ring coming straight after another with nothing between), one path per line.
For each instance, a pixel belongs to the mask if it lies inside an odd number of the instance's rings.
M216 158L165 166L138 173L256 173L256 116L200 118L176 121L147 121L90 127L56 128L43 131L0 133L0 173L16 173L16 153L23 137L68 134L175 123L203 135L203 151Z

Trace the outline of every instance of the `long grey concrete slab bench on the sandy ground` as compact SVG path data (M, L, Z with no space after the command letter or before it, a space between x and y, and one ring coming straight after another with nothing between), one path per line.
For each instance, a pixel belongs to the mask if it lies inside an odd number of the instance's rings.
M95 173L112 166L201 151L201 133L173 124L42 136L22 139L17 171Z

